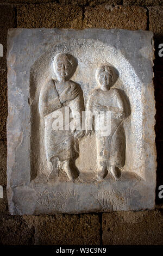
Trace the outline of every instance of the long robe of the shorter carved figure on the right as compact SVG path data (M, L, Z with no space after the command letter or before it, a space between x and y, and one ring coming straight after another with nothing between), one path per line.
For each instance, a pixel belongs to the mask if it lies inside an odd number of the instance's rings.
M87 109L98 114L100 111L111 111L110 135L102 136L102 133L96 130L97 163L106 162L110 166L122 167L125 162L126 141L122 124L125 110L120 90L116 88L110 88L108 91L93 90Z

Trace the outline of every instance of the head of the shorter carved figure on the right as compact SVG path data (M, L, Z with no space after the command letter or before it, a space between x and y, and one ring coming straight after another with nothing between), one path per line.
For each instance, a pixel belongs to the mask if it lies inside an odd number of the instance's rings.
M101 85L102 90L109 90L114 81L114 73L110 66L99 66L96 70L96 80Z

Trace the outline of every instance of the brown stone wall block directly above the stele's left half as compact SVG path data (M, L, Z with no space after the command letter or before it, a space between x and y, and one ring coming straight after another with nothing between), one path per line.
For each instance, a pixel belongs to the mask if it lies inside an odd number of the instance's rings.
M83 10L76 5L17 5L17 26L21 28L82 28Z

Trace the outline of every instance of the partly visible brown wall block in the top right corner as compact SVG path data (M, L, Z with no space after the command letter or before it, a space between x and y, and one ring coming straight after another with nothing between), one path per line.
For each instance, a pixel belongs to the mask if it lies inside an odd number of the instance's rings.
M153 31L156 38L163 36L163 7L149 7L149 30Z

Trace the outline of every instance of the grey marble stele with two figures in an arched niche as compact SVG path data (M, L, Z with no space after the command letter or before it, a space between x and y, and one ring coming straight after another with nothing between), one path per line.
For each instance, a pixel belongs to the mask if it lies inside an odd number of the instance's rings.
M9 29L14 215L153 209L153 33Z

